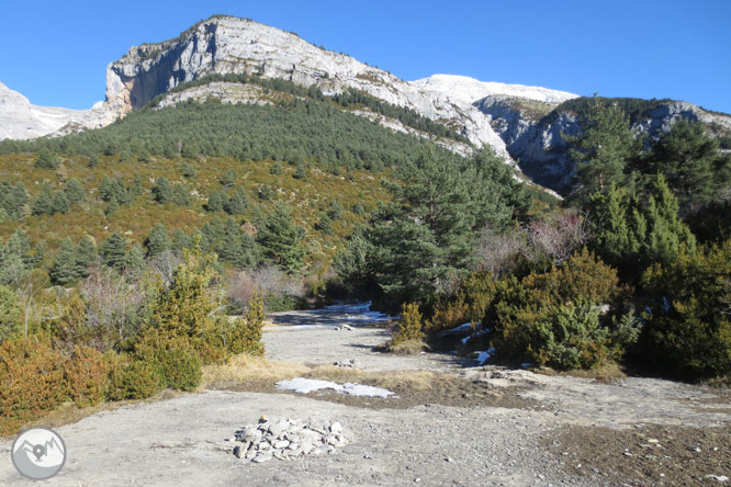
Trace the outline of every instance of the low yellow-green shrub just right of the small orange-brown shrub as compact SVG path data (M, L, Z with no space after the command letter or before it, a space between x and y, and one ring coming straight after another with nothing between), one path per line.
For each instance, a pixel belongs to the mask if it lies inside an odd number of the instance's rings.
M114 353L110 354L108 360L110 363L108 399L145 399L160 390L160 376L151 363Z

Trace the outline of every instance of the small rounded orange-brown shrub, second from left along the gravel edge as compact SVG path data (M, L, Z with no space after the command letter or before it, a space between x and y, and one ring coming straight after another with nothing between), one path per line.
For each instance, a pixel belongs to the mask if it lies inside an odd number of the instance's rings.
M104 355L82 344L74 347L74 355L64 371L69 395L79 407L104 400L110 365Z

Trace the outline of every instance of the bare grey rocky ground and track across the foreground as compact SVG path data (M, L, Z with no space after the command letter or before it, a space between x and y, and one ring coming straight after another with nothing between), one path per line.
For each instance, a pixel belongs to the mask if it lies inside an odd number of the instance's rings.
M394 356L374 349L386 339L383 324L358 316L353 308L273 316L274 326L265 330L267 355L312 365L339 362L345 366L333 367L337 375L323 378L390 384L397 397L333 390L303 395L279 390L272 382L256 392L230 383L131 404L56 428L68 460L46 483L731 485L726 479L731 477L727 390L652 378L608 382L480 367L474 360L449 354ZM338 423L342 438L318 455L297 452L291 460L255 463L244 452L238 458L234 450L246 442L236 441L236 432L259 424L261 415L272 424L274 418ZM245 437L239 433L238 439ZM280 446L289 441L284 433L274 437ZM7 452L0 485L30 485L15 473L10 446L10 441L0 442Z

